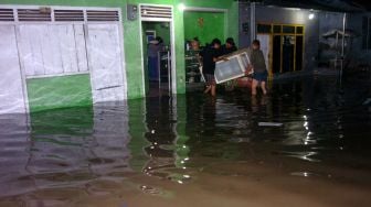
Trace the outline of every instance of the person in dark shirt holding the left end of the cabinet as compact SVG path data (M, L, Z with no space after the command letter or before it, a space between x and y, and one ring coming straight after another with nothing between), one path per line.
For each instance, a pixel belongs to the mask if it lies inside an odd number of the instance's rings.
M201 51L200 56L202 57L202 73L206 80L206 89L204 90L204 94L211 91L211 96L215 96L216 84L214 73L218 57L222 56L221 41L214 39L211 45L205 46L205 48Z

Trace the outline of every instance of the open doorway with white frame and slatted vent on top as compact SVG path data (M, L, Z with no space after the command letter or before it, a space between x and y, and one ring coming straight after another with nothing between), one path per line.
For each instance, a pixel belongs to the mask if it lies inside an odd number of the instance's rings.
M177 90L172 7L140 4L144 89L147 97Z

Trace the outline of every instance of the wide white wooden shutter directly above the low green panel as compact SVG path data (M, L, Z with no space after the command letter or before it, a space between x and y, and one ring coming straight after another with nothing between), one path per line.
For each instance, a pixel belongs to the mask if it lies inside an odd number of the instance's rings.
M82 24L21 24L18 30L26 77L87 73Z

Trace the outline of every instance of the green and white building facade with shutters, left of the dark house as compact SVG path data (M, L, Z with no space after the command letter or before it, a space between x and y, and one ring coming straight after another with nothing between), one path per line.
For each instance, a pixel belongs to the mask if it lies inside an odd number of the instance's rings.
M184 94L184 41L192 35L184 13L221 13L223 25L201 14L194 22L222 26L221 37L237 40L239 31L233 0L3 0L0 12L1 113L145 97L145 22L168 29L169 89Z

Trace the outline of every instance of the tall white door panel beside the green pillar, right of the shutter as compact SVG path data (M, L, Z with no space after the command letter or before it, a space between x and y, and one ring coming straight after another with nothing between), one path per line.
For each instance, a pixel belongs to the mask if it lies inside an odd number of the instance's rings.
M120 101L126 97L119 26L87 24L87 54L93 102Z

